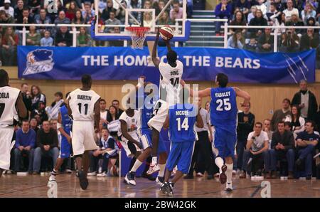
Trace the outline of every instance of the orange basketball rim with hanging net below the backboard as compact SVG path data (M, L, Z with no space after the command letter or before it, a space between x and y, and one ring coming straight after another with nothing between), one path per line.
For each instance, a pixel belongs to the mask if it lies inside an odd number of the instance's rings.
M128 26L126 30L129 31L131 34L132 39L132 48L143 48L144 40L146 39L146 33L150 31L149 27L143 26Z

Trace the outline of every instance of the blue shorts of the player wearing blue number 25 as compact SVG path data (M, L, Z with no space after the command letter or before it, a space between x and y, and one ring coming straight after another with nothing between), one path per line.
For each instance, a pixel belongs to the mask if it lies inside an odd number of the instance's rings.
M237 133L232 133L225 129L215 127L213 152L215 156L222 158L233 157L235 155L235 145L237 144Z

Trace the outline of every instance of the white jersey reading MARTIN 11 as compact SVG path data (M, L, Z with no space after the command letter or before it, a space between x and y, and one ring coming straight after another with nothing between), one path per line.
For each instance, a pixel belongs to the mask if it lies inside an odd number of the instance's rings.
M95 102L100 95L93 90L80 90L79 88L70 92L69 105L75 121L94 121Z

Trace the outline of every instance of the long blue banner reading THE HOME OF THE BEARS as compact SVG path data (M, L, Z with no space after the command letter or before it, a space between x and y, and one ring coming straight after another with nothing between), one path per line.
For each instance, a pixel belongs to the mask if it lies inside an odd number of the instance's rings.
M183 79L215 80L217 73L233 83L297 83L315 80L316 52L253 53L238 49L174 48L184 64ZM166 48L159 56L166 61ZM159 80L148 48L18 46L18 77L79 80L90 73L95 80Z

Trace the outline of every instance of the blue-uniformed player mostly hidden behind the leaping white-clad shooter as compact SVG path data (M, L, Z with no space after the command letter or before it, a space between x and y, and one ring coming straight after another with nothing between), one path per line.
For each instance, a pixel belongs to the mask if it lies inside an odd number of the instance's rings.
M139 83L136 86L138 90L138 103L142 102L142 105L138 104L138 112L139 116L137 117L137 135L139 137L140 142L142 143L142 148L144 149L144 152L139 155L137 160L134 162L134 165L132 166L132 169L129 171L129 173L124 177L124 180L127 182L127 184L134 184L134 174L137 169L139 169L139 166L142 165L143 161L146 160L150 155L151 155L151 137L152 137L152 131L148 126L148 122L151 118L152 115L152 110L153 110L153 100L152 100L152 95L150 92L144 92L144 88L146 85L149 83L143 83L144 78L139 79ZM142 89L142 92L139 92ZM142 93L143 95L139 95ZM139 101L140 100L140 101ZM146 105L148 104L148 105ZM162 139L159 141L159 174L156 177L156 183L162 184L164 182L164 171L166 169L166 159L167 159L167 154L166 154L166 147L164 146L164 142Z

